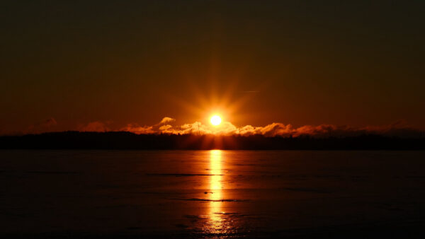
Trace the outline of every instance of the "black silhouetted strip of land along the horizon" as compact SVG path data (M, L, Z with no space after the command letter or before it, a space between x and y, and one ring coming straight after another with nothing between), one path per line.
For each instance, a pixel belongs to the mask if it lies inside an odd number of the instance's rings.
M361 136L267 137L131 132L50 132L0 136L4 149L282 149L282 150L425 150L425 137Z

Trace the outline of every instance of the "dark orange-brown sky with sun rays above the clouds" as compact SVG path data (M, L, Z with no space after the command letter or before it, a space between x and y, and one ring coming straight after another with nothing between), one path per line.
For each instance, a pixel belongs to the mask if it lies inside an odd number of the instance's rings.
M212 114L236 129L425 129L424 12L424 1L1 1L0 134L164 117L180 130Z

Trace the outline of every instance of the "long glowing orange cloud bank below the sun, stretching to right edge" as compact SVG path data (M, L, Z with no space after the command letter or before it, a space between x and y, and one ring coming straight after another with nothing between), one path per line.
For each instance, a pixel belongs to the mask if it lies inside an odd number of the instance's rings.
M401 136L401 137L423 137L424 132L418 129L405 126L403 122L384 126L368 126L368 127L350 127L335 126L332 124L320 124L317 126L304 125L302 127L293 127L291 124L282 124L273 122L264 127L254 127L246 125L236 127L230 122L222 122L219 126L210 124L202 124L201 122L193 122L190 124L172 125L175 119L164 117L158 124L152 126L140 126L137 124L128 124L120 131L133 132L135 134L215 134L215 135L241 135L249 136L261 134L264 136L315 136L315 137L342 137L342 136L359 136L362 134L380 134L383 136Z

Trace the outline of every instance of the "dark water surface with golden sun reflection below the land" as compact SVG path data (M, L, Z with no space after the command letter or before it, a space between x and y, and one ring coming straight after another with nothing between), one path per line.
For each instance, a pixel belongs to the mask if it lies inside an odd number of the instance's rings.
M4 238L421 238L424 151L0 151Z

